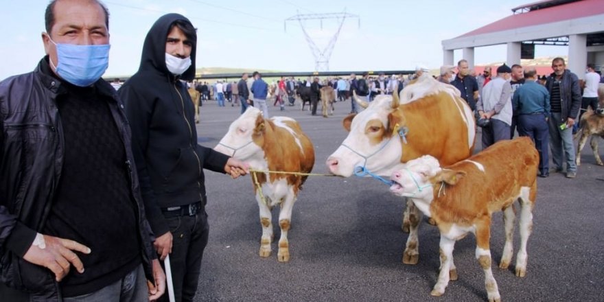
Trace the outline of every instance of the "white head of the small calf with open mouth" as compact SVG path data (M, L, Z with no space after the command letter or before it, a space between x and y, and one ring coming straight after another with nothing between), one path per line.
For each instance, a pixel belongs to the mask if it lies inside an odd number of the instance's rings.
M390 179L390 191L397 196L428 199L432 198L430 178L441 171L439 161L430 155L424 155L399 165Z

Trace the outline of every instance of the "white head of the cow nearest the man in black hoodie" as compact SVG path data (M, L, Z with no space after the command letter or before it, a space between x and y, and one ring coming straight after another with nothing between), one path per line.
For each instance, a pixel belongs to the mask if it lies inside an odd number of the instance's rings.
M262 161L264 151L262 137L264 117L257 108L248 106L247 110L229 126L227 132L214 150L232 156L240 161Z

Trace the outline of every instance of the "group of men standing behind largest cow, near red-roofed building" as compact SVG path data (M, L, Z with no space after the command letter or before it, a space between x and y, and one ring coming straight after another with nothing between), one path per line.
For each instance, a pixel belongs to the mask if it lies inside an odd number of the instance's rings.
M515 132L535 141L539 152L539 176L565 172L577 176L572 135L577 132L581 114L597 109L598 85L604 78L588 64L585 80L566 68L564 58L552 60L553 73L539 77L535 67L501 65L491 75L491 67L474 76L467 61L460 60L457 73L452 66L441 67L441 82L450 81L461 97L477 113L482 129L482 145L512 139ZM453 80L451 80L453 79ZM548 150L550 146L550 151ZM548 165L549 154L555 167Z

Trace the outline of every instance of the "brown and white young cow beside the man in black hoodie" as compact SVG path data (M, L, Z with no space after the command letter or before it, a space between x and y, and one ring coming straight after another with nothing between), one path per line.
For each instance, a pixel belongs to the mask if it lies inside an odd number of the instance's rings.
M244 114L233 121L229 132L214 150L247 162L253 170L309 173L314 165L312 142L297 121L290 117L265 119L262 112L254 107L248 107ZM251 174L256 174L262 187L262 191L259 191L252 177L262 224L260 257L270 256L273 237L270 211L272 207L281 205L281 238L277 258L280 262L287 262L290 260L288 230L292 220L292 207L307 176L261 172Z

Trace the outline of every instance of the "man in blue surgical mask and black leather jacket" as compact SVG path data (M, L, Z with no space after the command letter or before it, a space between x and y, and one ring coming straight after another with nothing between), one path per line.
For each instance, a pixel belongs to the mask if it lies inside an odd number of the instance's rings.
M124 106L101 75L109 14L54 0L38 67L0 82L2 301L146 301L165 290Z

